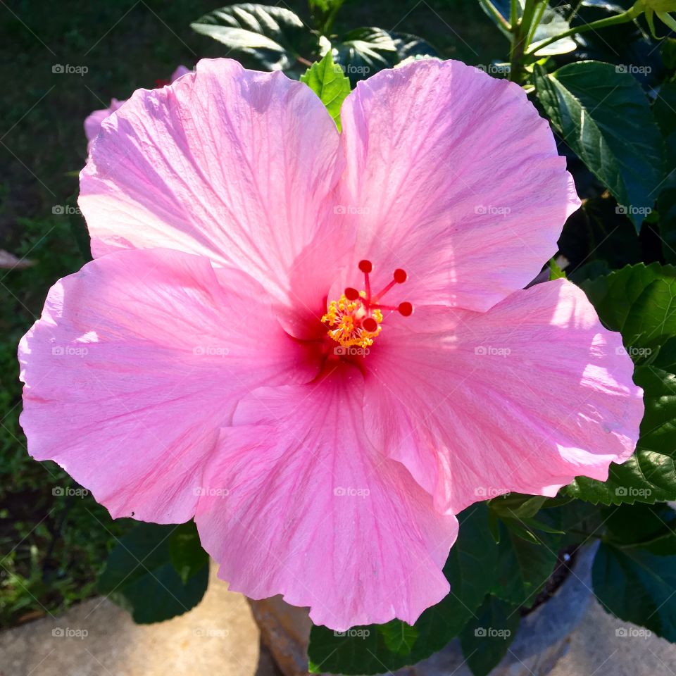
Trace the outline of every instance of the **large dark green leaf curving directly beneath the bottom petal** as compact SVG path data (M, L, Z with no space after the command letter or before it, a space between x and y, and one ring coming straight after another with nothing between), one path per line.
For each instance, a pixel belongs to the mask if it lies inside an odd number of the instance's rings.
M308 658L311 672L380 674L415 664L441 650L473 617L496 575L497 547L484 504L460 516L461 529L444 567L451 592L409 627L400 620L387 625L354 627L340 634L312 627Z

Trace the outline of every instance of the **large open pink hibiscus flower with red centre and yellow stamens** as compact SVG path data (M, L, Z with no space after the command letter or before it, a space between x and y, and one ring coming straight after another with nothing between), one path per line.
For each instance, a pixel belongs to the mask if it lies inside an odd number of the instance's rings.
M584 293L522 290L580 202L520 87L418 61L342 127L227 59L135 92L81 175L95 260L20 345L33 457L337 630L414 622L455 514L606 479L643 411Z

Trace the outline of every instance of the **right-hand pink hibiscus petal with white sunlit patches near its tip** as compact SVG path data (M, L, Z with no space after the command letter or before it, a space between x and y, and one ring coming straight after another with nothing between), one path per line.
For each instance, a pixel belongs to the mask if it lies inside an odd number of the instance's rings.
M620 334L565 280L487 313L419 308L383 329L368 361L368 434L442 511L606 480L639 437L642 392Z

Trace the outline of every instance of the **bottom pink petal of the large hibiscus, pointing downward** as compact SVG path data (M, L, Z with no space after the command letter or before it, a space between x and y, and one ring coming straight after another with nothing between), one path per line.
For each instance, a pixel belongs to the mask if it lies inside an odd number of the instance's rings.
M283 594L335 630L415 622L449 591L458 522L363 433L363 379L261 388L221 431L195 518L230 589Z

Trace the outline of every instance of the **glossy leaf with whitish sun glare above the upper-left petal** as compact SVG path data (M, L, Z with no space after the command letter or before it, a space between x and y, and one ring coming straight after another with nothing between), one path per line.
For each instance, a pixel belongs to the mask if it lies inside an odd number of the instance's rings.
M265 70L289 70L299 57L312 56L318 37L298 15L283 7L243 3L221 7L190 24L223 42L227 56L244 56Z

